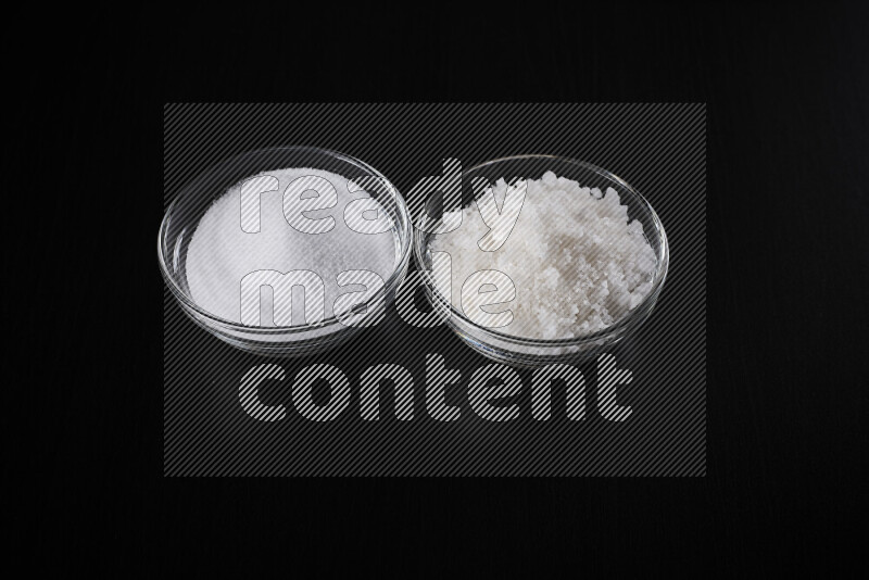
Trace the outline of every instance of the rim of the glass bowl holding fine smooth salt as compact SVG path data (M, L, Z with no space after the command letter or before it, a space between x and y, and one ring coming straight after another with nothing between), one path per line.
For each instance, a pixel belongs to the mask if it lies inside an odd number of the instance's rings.
M218 162L210 165L206 169L203 169L202 172L197 174L193 178L191 178L181 188L181 190L178 192L178 194L175 197L175 199L172 201L172 203L168 204L168 206L166 207L166 211L163 214L163 218L162 218L162 220L160 223L160 228L158 230L158 239L156 239L156 245L158 245L156 250L158 250L158 261L160 263L160 273L162 274L163 279L165 280L165 282L168 286L169 290L172 291L173 295L175 295L176 300L178 300L181 303L181 305L185 306L185 308L189 308L189 310L196 312L198 315L203 316L206 319L212 320L212 321L221 325L222 327L228 327L228 328L231 328L234 330L241 331L241 332L262 335L262 336L287 335L287 333L293 335L293 333L310 332L312 330L322 329L322 328L326 328L326 327L335 326L335 325L340 325L344 329L353 329L353 328L357 328L357 327L364 326L364 324L345 325L345 324L341 323L341 320L339 320L338 317L335 316L335 315L332 315L332 316L330 316L328 318L325 318L324 320L322 320L322 321L319 321L317 324L313 324L313 325L305 324L305 325L295 325L295 326L267 326L267 327L245 326L245 325L242 325L241 323L237 323L235 320L229 320L227 318L223 318L221 316L217 316L216 314L212 314L211 312L202 308L199 304L197 304L193 301L193 299L191 297L187 295L187 293L184 291L184 289L180 288L180 286L178 285L178 281L175 279L175 276L169 272L168 264L166 263L166 259L167 259L167 256L169 256L171 254L174 253L174 250L171 251L167 248L167 245L165 243L165 241L166 241L165 238L166 238L166 231L167 231L169 223L172 220L172 213L173 213L173 210L178 204L178 202L180 200L182 200L186 194L191 194L192 193L193 186L196 185L198 179L200 177L202 177L203 175L206 175L209 172L215 171L216 168L218 168L223 164L229 163L231 161L241 160L241 159L247 157L247 156L253 156L253 155L257 155L257 154L265 154L265 153L277 152L277 151L284 151L284 152L289 152L289 153L308 152L308 153L318 153L318 154L325 154L325 155L329 155L329 156L332 156L332 157L337 157L337 159L339 159L341 161L344 161L344 162L348 162L348 163L350 163L352 165L356 165L356 166L358 166L360 168L362 168L362 169L364 169L366 172L369 172L373 176L375 176L378 179L380 179L383 182L385 187L388 189L389 193L392 194L392 197L395 200L395 205L398 206L398 217L400 217L401 222L403 222L407 226L405 228L406 229L406 236L402 240L401 255L398 257L396 265L395 265L395 268L393 269L392 274L390 275L390 277L387 280L383 280L383 286L380 288L380 290L375 295L373 295L367 302L365 302L365 305L367 307L367 312L366 312L365 316L367 317L369 314L376 313L377 308L381 307L378 304L381 299L385 302L383 305L386 305L386 299L387 299L389 292L392 291L395 287L398 287L399 283L401 282L401 280L404 278L404 274L406 273L407 264L410 262L410 256L411 256L411 253L413 251L413 238L414 238L414 236L413 236L413 234L414 234L413 232L413 220L411 219L411 214L410 214L410 210L407 209L407 203L404 200L404 197L399 191L399 189L392 184L392 181L387 179L387 177L383 174L381 174L379 171L374 168L371 165L365 163L364 161L362 161L360 159L356 159L356 157L354 157L352 155L349 155L347 153L341 153L340 151L335 151L335 150L331 150L331 149L325 149L325 148L314 147L314 146L279 146L279 147L266 147L266 148L261 148L261 149L252 149L252 150L249 150L249 151L243 151L241 153L238 153L236 155L231 155L229 157L226 157L226 159L224 159L222 161L218 161ZM316 168L316 167L312 167L312 168ZM229 187L232 187L232 186L229 186ZM399 227L396 225L395 229L398 230L398 228ZM308 339L310 340L323 340L326 337L303 337L300 340L308 340Z

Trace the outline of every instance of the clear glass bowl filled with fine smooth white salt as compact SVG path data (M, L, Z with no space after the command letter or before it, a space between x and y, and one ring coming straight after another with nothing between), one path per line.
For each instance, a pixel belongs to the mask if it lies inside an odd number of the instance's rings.
M245 351L306 355L382 319L411 241L404 199L377 169L282 147L188 184L163 217L158 255L196 324Z

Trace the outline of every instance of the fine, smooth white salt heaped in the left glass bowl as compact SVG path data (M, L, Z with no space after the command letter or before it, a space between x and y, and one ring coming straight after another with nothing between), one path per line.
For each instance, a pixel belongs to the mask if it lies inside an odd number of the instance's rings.
M256 270L308 270L324 282L325 317L329 318L340 314L333 312L336 299L358 288L353 283L339 287L339 274L364 269L377 274L383 281L389 279L396 260L394 230L363 234L351 229L343 217L348 215L345 209L350 203L370 199L366 191L349 187L343 176L320 169L285 168L260 174L266 175L276 178L279 185L273 191L259 194L259 231L242 229L242 182L217 198L200 219L186 262L187 283L197 305L215 316L240 323L240 283L247 275ZM308 219L332 216L335 226L329 231L299 231L285 217L287 187L299 178L312 177L324 178L337 192L336 205L305 212ZM304 199L307 194L300 197ZM299 298L303 300L292 300L292 326L305 324L304 307L311 297ZM263 292L261 300L260 312L264 318L257 326L273 326L274 291Z

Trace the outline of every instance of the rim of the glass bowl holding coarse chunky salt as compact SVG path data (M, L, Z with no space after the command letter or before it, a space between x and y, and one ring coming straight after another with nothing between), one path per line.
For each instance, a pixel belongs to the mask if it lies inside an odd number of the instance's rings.
M667 270L669 269L669 263L670 263L670 251L669 251L669 242L667 241L667 234L664 230L664 225L660 223L660 217L658 217L658 214L657 212L655 212L655 209L652 206L652 204L648 203L648 200L646 200L645 197L643 197L633 186L628 184L625 179L622 179L621 177L615 175L614 173L607 169L604 169L603 167L599 167L597 165L588 163L585 161L577 160L574 157L549 155L549 154L521 154L521 155L509 155L504 157L498 157L484 161L482 163L478 163L477 165L474 165L468 169L464 169L462 172L462 184L465 182L466 176L476 169L480 169L489 165L494 165L496 163L516 162L521 160L552 160L552 161L557 161L559 163L568 163L577 165L584 169L594 172L601 175L602 177L609 179L610 181L614 181L615 184L624 188L626 191L628 191L631 196L637 198L637 200L648 211L650 215L652 216L652 222L654 223L655 228L659 232L659 238L660 238L660 242L658 243L660 248L660 259L655 269L653 285L648 293L645 295L643 301L637 305L637 307L630 311L630 313L627 316L624 316L617 323L602 330L597 330L596 332L591 332L589 335L582 335L579 337L566 338L566 339L536 339L536 338L520 337L516 335L508 335L498 330L492 330L491 328L487 328L484 326L480 326L477 323L470 320L467 316L465 316L464 312L456 308L451 301L446 301L442 295L440 295L440 293L437 290L434 290L433 279L431 277L431 270L425 268L425 263L423 261L424 252L426 250L426 248L423 247L423 243L425 242L429 234L415 231L414 260L416 261L416 265L419 268L419 272L423 273L421 277L427 282L427 291L425 292L426 297L428 297L429 300L438 301L437 304L432 302L432 306L436 307L436 310L440 310L441 312L446 312L445 308L449 307L450 316L446 318L446 323L453 328L453 330L455 330L455 325L456 325L453 316L456 316L458 320L471 327L475 333L480 332L483 337L489 337L490 339L508 342L513 344L519 344L524 346L577 346L577 345L597 343L602 339L618 336L622 329L633 326L633 324L635 324L635 321L639 319L638 316L640 316L641 314L645 314L652 310L652 307L655 305L655 302L657 301L662 288L664 287L664 281L667 278ZM479 337L477 336L475 336L475 338L479 339Z

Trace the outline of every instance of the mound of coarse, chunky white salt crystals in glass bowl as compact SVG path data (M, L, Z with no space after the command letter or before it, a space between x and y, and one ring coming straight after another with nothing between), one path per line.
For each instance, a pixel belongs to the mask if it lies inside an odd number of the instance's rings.
M494 191L499 207L509 190L502 178ZM452 259L452 302L461 310L463 282L475 272L503 272L516 299L488 312L513 312L496 330L536 339L566 339L603 330L635 308L652 290L656 256L640 222L628 223L628 207L613 188L580 187L546 172L527 180L527 193L509 238L494 252L478 240L488 231L477 204L462 210L462 225L432 238L432 251Z

